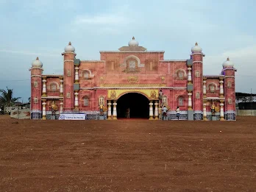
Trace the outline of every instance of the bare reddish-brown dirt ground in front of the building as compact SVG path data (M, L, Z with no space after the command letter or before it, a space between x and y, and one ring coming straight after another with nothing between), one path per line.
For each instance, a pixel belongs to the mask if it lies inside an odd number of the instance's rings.
M0 115L0 191L256 191L255 124Z

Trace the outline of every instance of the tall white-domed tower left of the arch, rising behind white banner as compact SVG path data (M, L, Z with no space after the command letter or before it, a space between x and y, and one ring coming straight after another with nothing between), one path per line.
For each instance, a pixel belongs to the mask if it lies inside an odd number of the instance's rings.
M74 46L71 46L71 42L68 46L65 46L64 56L64 74L63 74L63 111L74 110L74 58L75 54Z

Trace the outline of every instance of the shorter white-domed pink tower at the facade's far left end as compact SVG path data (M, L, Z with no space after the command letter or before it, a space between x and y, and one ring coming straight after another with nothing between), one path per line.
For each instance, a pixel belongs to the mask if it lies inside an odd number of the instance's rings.
M42 74L43 63L38 57L32 62L31 71L31 96L30 96L30 115L31 119L40 119L42 117Z

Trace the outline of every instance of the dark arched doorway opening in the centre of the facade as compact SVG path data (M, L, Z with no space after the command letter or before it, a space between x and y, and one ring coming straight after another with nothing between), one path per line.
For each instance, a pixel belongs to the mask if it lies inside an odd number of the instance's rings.
M149 118L149 99L140 93L127 93L117 101L118 118Z

